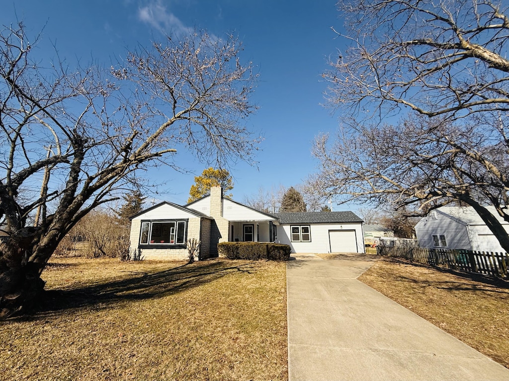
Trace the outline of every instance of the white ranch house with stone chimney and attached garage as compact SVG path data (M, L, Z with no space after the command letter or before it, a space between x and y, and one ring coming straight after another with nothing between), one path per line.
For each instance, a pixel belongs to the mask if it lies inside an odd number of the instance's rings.
M186 242L201 241L201 257L217 255L219 242L276 242L292 252L364 252L362 219L352 212L269 214L223 198L220 187L180 206L162 202L131 219L130 247L145 259L185 260Z

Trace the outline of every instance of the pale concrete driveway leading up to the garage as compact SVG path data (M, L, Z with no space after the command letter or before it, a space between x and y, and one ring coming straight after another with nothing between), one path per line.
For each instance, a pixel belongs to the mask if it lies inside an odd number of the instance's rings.
M509 369L357 280L375 258L292 256L289 381L509 380Z

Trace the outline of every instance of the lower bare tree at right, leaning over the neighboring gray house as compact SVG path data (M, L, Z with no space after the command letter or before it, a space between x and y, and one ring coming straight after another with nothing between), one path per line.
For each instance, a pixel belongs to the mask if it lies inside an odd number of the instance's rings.
M488 121L491 121L489 119ZM398 125L359 124L328 144L317 137L320 172L310 184L342 202L370 202L422 215L449 203L472 206L502 247L509 237L485 207L509 221L509 143L506 120L498 125L416 117Z

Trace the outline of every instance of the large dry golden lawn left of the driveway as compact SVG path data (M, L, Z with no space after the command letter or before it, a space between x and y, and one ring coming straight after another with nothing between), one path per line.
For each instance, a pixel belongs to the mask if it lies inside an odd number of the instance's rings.
M286 264L53 259L2 380L286 380Z

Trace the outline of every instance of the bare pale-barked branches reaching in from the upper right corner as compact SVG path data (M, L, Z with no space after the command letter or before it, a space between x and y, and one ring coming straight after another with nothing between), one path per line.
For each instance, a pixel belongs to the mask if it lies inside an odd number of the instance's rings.
M345 110L465 116L509 110L507 3L340 0L349 47L324 74Z

